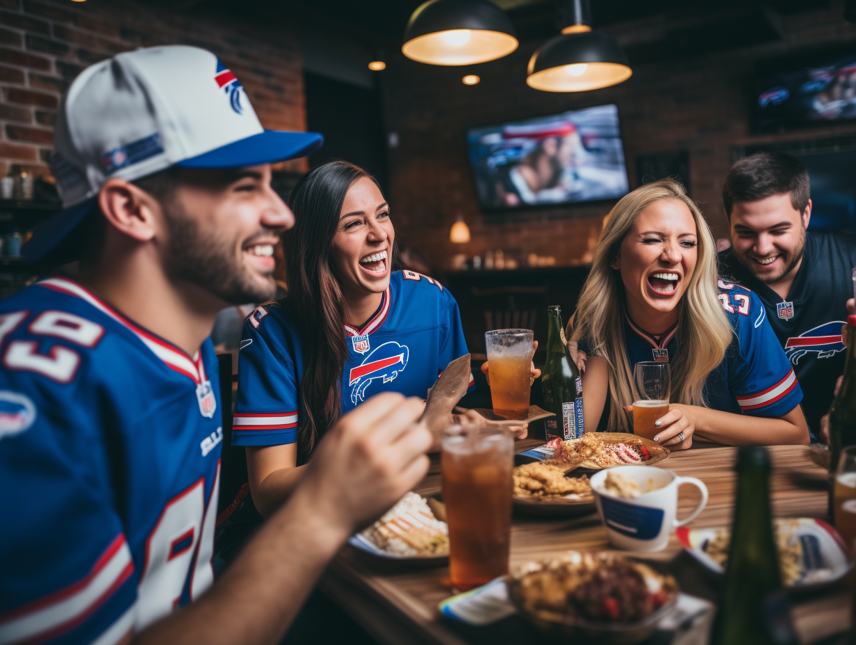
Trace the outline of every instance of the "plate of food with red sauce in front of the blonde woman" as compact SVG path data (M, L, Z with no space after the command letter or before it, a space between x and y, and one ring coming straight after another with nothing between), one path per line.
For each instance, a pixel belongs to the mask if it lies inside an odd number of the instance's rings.
M556 438L542 446L540 452L544 454L550 448L553 452L545 454L545 463L584 472L643 463L650 466L665 461L671 454L669 448L630 433L586 433L580 439L568 441Z

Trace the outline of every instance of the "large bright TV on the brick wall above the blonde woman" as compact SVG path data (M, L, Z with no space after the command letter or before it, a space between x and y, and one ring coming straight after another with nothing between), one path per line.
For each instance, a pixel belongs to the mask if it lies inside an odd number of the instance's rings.
M615 105L472 128L467 143L484 210L615 200L627 194Z

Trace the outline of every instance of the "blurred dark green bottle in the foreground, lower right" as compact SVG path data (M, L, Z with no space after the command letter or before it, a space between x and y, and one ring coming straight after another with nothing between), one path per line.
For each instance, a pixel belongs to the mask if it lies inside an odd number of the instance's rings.
M770 512L770 456L766 448L743 446L737 453L734 524L711 645L778 642L770 633L770 623L776 622L770 599L781 588Z

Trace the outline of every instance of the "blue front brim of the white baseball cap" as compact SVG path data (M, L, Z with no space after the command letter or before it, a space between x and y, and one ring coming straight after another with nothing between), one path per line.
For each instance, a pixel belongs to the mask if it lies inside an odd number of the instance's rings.
M323 143L324 136L318 132L265 130L180 161L178 165L184 168L240 168L245 165L276 164L286 159L306 157Z

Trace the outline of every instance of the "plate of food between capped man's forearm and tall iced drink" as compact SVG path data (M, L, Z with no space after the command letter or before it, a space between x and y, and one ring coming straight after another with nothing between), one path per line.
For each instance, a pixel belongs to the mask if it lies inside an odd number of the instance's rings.
M377 558L413 564L446 564L449 561L449 527L445 506L437 499L407 493L376 523L348 544Z

